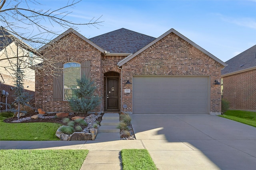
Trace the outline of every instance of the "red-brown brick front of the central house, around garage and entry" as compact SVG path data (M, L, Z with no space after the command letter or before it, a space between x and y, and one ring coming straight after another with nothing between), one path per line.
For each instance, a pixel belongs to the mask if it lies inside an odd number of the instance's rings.
M55 49L46 51L44 55L54 58L55 62L60 61L62 63L91 61L91 80L96 83L96 94L101 99L101 104L95 111L104 111L106 102L104 75L108 75L109 72L116 72L121 81L121 70L117 63L126 56L101 55L100 51L73 34L64 37L64 39L66 39L62 43L64 47L58 48L57 44ZM122 66L123 85L120 106L127 104L128 109L126 111L132 111L132 85L126 84L126 81L129 79L132 82L133 75L208 75L210 76L211 89L210 112L220 113L220 86L214 85L214 80L220 81L221 68L220 63L174 33L170 33ZM71 111L68 102L53 102L52 81L52 76L44 74L36 76L36 107L41 107L48 112ZM131 89L131 93L124 93L124 89L127 88Z

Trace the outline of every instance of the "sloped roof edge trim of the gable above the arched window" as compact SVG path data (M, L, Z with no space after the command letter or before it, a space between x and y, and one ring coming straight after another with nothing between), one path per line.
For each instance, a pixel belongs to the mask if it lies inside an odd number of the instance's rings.
M87 43L89 43L90 45L92 45L93 47L95 47L96 49L98 49L100 52L102 53L106 53L106 50L102 49L101 47L99 47L98 45L96 45L95 43L93 43L92 41L88 40L86 37L84 37L83 35L81 35L80 33L78 33L77 31L75 31L74 29L70 28L67 31L65 31L64 33L62 33L61 35L59 35L58 37L56 37L55 39L53 39L51 42L55 42L58 41L59 39L61 39L62 37L64 37L65 35L69 34L69 33L74 33L76 34L78 37L80 37L81 39L83 39L84 41L86 41ZM44 45L43 47L41 47L39 50L44 50L46 47L48 47L49 44Z

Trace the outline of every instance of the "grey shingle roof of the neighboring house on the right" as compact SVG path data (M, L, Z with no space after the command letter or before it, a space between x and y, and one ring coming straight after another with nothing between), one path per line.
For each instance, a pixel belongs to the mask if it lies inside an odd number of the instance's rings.
M256 45L226 61L226 64L228 66L222 69L222 76L256 68Z

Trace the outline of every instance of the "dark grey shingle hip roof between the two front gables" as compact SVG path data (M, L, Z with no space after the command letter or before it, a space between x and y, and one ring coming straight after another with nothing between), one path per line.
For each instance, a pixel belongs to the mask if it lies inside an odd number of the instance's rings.
M121 28L89 40L110 53L135 53L155 39L148 35Z

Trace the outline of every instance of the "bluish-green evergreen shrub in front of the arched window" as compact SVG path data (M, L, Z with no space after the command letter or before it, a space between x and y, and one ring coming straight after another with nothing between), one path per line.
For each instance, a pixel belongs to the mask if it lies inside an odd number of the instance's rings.
M87 113L95 109L100 103L100 100L98 96L94 96L96 89L94 83L85 77L77 79L76 82L79 88L72 89L72 98L69 100L71 109L78 113Z

